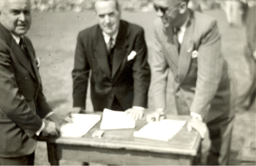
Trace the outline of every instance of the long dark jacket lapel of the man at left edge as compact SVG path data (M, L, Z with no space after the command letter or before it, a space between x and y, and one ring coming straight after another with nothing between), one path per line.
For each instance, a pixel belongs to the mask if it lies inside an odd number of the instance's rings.
M18 59L18 61L20 62L20 64L25 67L28 72L30 73L30 75L35 79L36 76L34 75L34 71L32 69L32 65L29 61L29 59L26 57L26 55L23 53L22 48L20 48L20 46L15 43L14 40L12 40L11 42L11 48L13 50L13 53L15 54L15 57Z

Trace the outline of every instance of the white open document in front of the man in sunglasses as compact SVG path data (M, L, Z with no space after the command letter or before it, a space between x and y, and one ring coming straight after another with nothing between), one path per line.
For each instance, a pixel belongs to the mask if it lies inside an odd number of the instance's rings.
M139 131L133 132L133 136L153 140L168 141L186 124L185 120L161 120L143 126Z

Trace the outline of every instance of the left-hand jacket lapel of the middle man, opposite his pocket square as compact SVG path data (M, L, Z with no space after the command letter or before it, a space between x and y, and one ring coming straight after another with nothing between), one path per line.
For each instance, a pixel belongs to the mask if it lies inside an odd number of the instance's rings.
M98 28L97 34L98 35L96 39L96 44L94 44L94 56L98 60L98 63L100 64L100 67L102 68L104 73L108 77L111 77L110 68L108 64L108 55L106 53L106 44L104 42L104 38L100 28Z

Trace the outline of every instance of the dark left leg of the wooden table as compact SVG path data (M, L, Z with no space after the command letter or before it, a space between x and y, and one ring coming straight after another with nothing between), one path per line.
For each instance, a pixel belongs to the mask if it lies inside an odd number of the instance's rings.
M47 142L48 160L51 165L59 165L57 144Z

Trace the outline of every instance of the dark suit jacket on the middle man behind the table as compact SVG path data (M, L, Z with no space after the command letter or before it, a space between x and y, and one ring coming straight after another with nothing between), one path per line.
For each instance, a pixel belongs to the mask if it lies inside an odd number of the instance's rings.
M135 58L127 60L131 51ZM73 75L73 106L86 107L86 92L90 86L94 111L110 108L114 97L126 110L132 106L147 107L150 67L143 29L120 22L115 44L113 69L110 72L106 44L99 25L79 32L75 50Z

